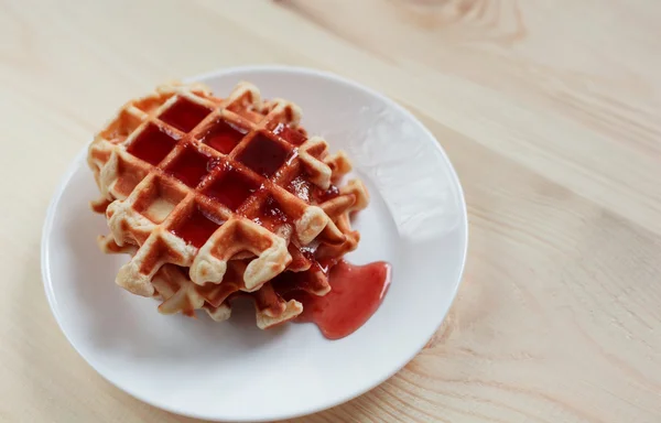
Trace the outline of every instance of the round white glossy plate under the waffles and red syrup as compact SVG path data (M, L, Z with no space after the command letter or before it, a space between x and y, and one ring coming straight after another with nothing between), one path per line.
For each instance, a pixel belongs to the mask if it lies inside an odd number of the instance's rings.
M120 389L195 417L292 417L376 387L434 334L462 276L466 206L447 156L410 112L335 75L269 66L195 79L220 96L245 79L266 98L293 100L311 133L348 152L371 194L355 220L362 237L348 260L392 263L386 300L365 326L334 341L312 324L260 330L250 304L226 323L160 315L155 301L115 284L127 258L96 248L95 237L108 229L88 207L97 188L84 151L53 198L42 240L46 295L62 330Z

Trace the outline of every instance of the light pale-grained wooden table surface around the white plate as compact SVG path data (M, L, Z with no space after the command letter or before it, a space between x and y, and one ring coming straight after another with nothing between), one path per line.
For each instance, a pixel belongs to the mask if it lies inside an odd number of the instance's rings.
M305 422L661 421L661 2L0 1L0 421L193 422L98 376L53 318L40 236L119 105L243 64L332 70L436 135L465 279L397 376Z

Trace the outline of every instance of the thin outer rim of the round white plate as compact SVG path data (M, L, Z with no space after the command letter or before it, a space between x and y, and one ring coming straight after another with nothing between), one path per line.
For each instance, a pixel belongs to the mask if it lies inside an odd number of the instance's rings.
M194 76L182 78L182 80L184 83L195 83L195 82L205 83L208 79L220 77L220 76L231 76L231 75L236 75L236 74L256 73L256 72L258 72L258 73L283 73L284 72L284 73L292 73L292 74L301 74L301 75L306 75L306 76L322 77L322 78L330 79L330 80L339 83L339 84L345 84L345 85L350 86L354 89L365 91L365 93L369 94L370 96L373 96L377 99L383 101L386 105L394 108L398 112L400 112L404 117L407 117L413 124L418 126L423 131L423 133L425 133L427 137L430 137L432 140L435 141L433 144L441 153L442 160L445 161L445 163L448 167L448 171L449 171L448 172L449 178L453 180L454 185L457 188L458 204L459 204L459 209L462 212L460 226L463 228L463 235L464 235L463 239L462 239L464 248L460 251L460 254L462 254L460 270L458 272L456 281L454 281L454 284L452 285L452 293L451 293L452 300L449 302L449 306L443 313L442 318L438 321L438 325L435 326L434 330L424 338L422 345L419 345L414 349L412 349L413 352L409 357L407 357L405 360L403 360L403 362L400 366L395 366L390 371L384 372L382 377L378 378L373 382L367 383L365 387L361 387L360 389L357 389L357 390L349 390L349 392L347 394L338 395L338 397L334 398L333 400L324 402L322 405L315 405L315 406L310 406L310 408L303 406L295 413L273 414L270 417L260 416L258 419L254 419L254 417L250 417L250 415L248 415L248 414L240 419L236 419L236 416L231 416L231 421L236 421L236 422L268 422L271 420L295 419L295 417L300 417L300 416L304 416L304 415L310 415L310 414L313 414L316 412L321 412L324 410L328 410L330 408L337 406L345 402L351 401L353 399L355 399L357 397L362 395L364 393L375 389L376 387L380 386L381 383L383 383L384 381L390 379L392 376L398 373L404 366L407 366L411 360L413 360L420 354L420 351L424 348L424 345L426 345L429 339L432 338L432 336L438 330L438 327L441 327L443 322L445 322L445 318L447 317L447 313L449 312L452 304L454 304L454 301L456 300L456 295L457 295L459 285L462 284L462 281L464 279L464 274L465 274L465 270L466 270L466 261L467 261L467 256L468 256L468 241L469 241L468 210L467 210L466 199L465 199L465 195L464 195L464 188L460 183L459 176L458 176L454 165L452 164L452 161L447 156L447 153L445 152L445 150L443 149L443 147L441 145L441 143L438 142L436 137L429 130L429 128L426 128L426 126L424 126L424 123L422 123L411 111L409 111L407 108L404 108L403 106L398 104L395 100L393 100L393 99L387 97L386 95L383 95L368 86L365 86L358 82L348 79L346 77L343 77L343 76L337 75L332 72L316 69L313 67L288 66L288 65L247 65L247 66L220 67L220 68L217 68L214 70L209 70L209 72L205 72L205 73L197 74ZM229 416L204 415L204 414L198 414L195 412L189 412L187 410L180 410L180 409L171 408L166 403L155 403L155 402L151 401L150 398L145 398L142 394L132 391L130 387L128 387L128 388L120 387L118 383L112 381L108 376L104 375L95 365L91 364L91 361L78 349L76 344L72 340L72 338L65 330L65 328L62 324L62 317L59 316L59 314L57 312L57 306L56 306L57 301L55 299L55 294L53 291L53 283L51 280L51 272L50 272L51 259L50 259L50 254L48 254L48 249L46 247L48 245L50 234L53 228L53 224L55 221L56 207L59 204L61 198L62 198L66 187L69 185L72 177L76 174L78 169L84 164L85 156L87 155L87 151L88 151L88 144L86 144L82 149L82 151L79 151L75 155L74 160L68 165L65 174L61 177L61 180L57 184L57 188L55 189L55 192L51 198L51 202L48 203L48 207L46 208L46 216L45 216L43 228L42 228L42 237L41 237L42 280L44 283L44 291L46 294L46 299L48 301L48 306L51 307L51 312L53 313L53 316L55 317L55 322L57 323L59 332L62 332L62 334L64 335L66 340L74 348L74 350L78 354L78 356L80 356L85 360L85 362L87 362L87 365L89 367L91 367L104 380L109 382L115 388L133 397L134 399L142 401L151 406L154 406L154 408L158 408L158 409L161 409L161 410L164 410L166 412L174 413L177 415L184 415L184 416L189 416L189 417L194 417L194 419L219 421L219 422L229 421L228 420Z

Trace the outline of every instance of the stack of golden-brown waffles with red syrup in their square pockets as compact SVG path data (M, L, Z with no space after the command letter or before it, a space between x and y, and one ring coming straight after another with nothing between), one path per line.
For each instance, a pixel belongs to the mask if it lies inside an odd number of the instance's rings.
M126 104L89 147L110 234L105 252L131 256L116 282L162 300L159 311L217 321L249 296L264 328L302 312L269 283L285 275L316 295L327 270L359 241L349 214L368 204L343 152L300 127L289 101L251 84L214 97L199 84L160 86ZM290 283L291 284L291 283Z

